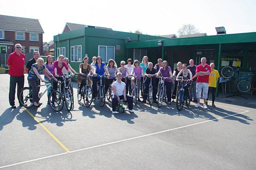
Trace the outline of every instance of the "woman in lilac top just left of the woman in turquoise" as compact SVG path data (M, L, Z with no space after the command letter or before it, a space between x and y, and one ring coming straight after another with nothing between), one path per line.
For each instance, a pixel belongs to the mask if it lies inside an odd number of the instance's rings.
M138 60L135 60L133 65L134 65L134 67L132 69L131 75L132 76L143 76L143 68L142 68L142 66L140 66L140 62ZM141 79L141 77L137 78L138 85L140 84L140 79ZM134 82L135 82L135 78L132 77L132 80L131 80L131 91L133 90ZM141 102L140 101L140 88L138 88L138 102Z

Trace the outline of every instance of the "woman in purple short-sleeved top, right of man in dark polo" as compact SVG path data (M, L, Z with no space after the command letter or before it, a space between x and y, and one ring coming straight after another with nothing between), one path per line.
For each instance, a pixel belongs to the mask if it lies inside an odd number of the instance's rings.
M162 67L160 67L158 73L156 76L159 76L162 74L162 77L168 77L166 78L165 81L165 87L166 87L166 94L167 94L167 99L168 105L171 105L171 94L172 94L172 69L168 66L167 61L162 62Z

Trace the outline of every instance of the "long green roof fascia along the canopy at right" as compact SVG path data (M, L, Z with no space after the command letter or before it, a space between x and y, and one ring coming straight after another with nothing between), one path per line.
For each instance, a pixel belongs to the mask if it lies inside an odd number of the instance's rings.
M252 43L256 42L256 32L236 33L227 35L210 35L205 37L187 37L174 39L158 39L151 41L130 42L126 44L127 49L159 47L158 41L163 41L163 46L181 45L206 45L206 44L226 44L226 43Z

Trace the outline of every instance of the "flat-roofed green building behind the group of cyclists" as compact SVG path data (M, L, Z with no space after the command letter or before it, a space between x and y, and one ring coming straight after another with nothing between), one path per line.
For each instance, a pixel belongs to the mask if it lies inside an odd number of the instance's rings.
M233 66L234 70L240 66L244 73L248 73L250 67L256 70L256 32L165 38L82 27L55 35L54 43L56 56L63 54L68 57L75 70L85 56L89 57L90 63L93 56L101 56L104 62L114 59L119 66L122 60L141 61L144 55L154 64L158 58L167 60L172 70L178 61L188 64L190 59L194 59L195 64L200 64L202 57L206 57L208 64L215 63L219 72L226 65ZM254 83L254 79L250 78L250 81ZM236 84L231 86L234 92Z

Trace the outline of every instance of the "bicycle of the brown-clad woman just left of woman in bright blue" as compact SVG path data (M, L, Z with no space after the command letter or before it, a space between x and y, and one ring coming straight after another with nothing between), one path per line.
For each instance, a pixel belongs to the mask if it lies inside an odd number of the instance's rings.
M89 77L92 77L92 76L86 75L84 73L82 73L82 76L86 76L86 84L84 87L82 87L80 94L78 94L80 89L80 84L78 84L77 99L78 99L78 102L80 102L83 98L84 105L86 107L89 107L92 104L92 86L89 85Z

